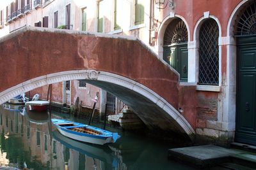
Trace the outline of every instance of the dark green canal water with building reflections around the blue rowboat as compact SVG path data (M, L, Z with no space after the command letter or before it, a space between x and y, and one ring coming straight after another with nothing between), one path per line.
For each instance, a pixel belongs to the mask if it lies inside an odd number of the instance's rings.
M52 113L87 123L68 114ZM93 124L102 127L100 124ZM3 166L22 169L194 169L167 158L173 145L120 129L122 137L104 146L90 145L66 138L51 124L48 114L27 112L23 106L0 106L0 169Z

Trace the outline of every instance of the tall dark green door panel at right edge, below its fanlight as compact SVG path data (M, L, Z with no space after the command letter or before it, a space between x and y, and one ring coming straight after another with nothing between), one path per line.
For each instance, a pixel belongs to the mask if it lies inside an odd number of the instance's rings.
M240 143L256 145L256 38L238 38L236 136Z

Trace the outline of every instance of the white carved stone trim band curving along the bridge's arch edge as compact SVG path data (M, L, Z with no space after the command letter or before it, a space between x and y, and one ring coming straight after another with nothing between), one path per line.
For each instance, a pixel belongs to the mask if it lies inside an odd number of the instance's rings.
M170 115L170 117L172 117L173 120L175 120L177 124L180 125L180 127L183 129L184 132L186 132L186 134L188 134L189 137L192 138L191 134L195 134L195 131L193 130L189 122L179 113L179 111L175 110L175 108L173 108L171 104L163 99L163 97L156 94L156 92L129 78L125 78L123 76L104 71L63 71L60 73L52 73L45 76L40 76L38 78L33 78L31 80L25 81L24 83L20 83L19 85L11 87L10 89L6 89L3 92L0 92L0 104L3 104L9 99L12 99L12 97L22 94L23 92L28 92L29 90L33 90L44 85L58 83L61 81L79 79L106 81L133 90L134 92L137 92L138 94L141 94L150 101L156 103L157 106L166 111L166 113L168 113L168 115Z

